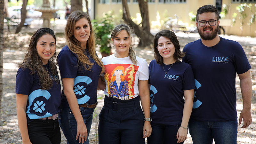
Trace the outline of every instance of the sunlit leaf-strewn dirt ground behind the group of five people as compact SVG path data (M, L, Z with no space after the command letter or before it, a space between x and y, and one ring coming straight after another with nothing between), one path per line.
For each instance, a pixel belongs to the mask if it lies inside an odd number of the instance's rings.
M60 22L61 23L61 22ZM57 38L57 52L60 52L61 48L66 44L65 36L61 33L63 30L62 25L55 26L56 38ZM7 31L5 27L4 30L4 40L5 40L5 48L4 48L4 73L3 73L3 98L2 98L2 106L0 110L0 144L19 144L21 142L21 136L19 132L18 122L17 122L17 114L16 114L16 97L15 97L15 76L18 70L17 64L20 60L23 60L24 53L26 51L26 46L33 34L36 30L36 24L31 25L30 28L23 28L21 33L13 34L13 30L11 32ZM152 33L155 34L158 30L152 30ZM180 40L181 48L196 39L199 38L198 34L184 34L177 33L177 36ZM220 35L223 37L223 35ZM247 58L252 66L251 68L251 76L252 76L252 124L246 128L242 129L241 125L238 125L238 135L237 135L237 143L238 144L255 144L256 143L256 38L251 37L241 37L241 36L224 36L224 38L238 41L244 48L244 51L247 55ZM134 38L136 39L136 38ZM136 44L136 40L134 43ZM135 45L136 46L136 45ZM150 47L140 48L135 47L136 55L147 60L148 64L151 60L154 59L153 49ZM112 49L112 52L115 50ZM99 48L97 48L97 54L101 57ZM236 77L236 91L237 91L237 115L239 114L243 108L239 78ZM90 143L97 144L97 132L98 132L98 116L101 108L103 107L103 92L98 91L98 102L99 105L95 109L94 118L90 133ZM65 137L62 133L61 144L66 143ZM192 139L190 135L188 135L188 139L184 142L184 144L192 144Z

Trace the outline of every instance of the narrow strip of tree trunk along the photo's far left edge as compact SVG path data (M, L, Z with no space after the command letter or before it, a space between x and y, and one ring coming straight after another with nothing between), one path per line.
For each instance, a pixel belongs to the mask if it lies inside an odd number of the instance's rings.
M0 108L3 97L4 0L0 0Z

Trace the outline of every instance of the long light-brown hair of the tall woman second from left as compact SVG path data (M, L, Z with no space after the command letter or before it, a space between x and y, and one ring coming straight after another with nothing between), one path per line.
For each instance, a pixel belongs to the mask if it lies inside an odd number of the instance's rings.
M86 20L88 20L90 24L90 29L91 29L90 36L86 43L86 48L88 48L90 57L92 57L92 59L102 68L101 73L103 73L104 65L96 55L95 33L92 28L92 22L88 14L83 11L74 11L68 16L67 24L65 27L65 36L66 36L66 42L67 42L68 48L77 55L78 57L77 66L83 65L86 70L90 70L92 68L93 63L91 63L89 58L84 54L85 50L82 48L80 42L74 36L75 24L78 20L82 18L85 18ZM89 68L86 68L86 65L88 65Z

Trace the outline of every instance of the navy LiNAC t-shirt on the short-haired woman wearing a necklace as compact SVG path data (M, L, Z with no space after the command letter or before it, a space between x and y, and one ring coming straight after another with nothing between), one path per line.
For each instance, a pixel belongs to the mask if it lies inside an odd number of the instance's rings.
M175 62L170 67L159 65L156 60L152 60L148 67L152 124L181 124L184 91L195 89L194 75L189 64ZM168 70L166 74L164 70Z

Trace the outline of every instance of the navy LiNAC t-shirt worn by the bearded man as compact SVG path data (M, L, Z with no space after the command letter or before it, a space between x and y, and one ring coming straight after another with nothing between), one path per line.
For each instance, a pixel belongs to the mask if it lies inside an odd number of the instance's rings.
M191 119L223 122L237 119L236 73L243 74L251 66L242 46L220 37L212 47L201 39L188 43L182 59L191 65L195 76L195 96Z

